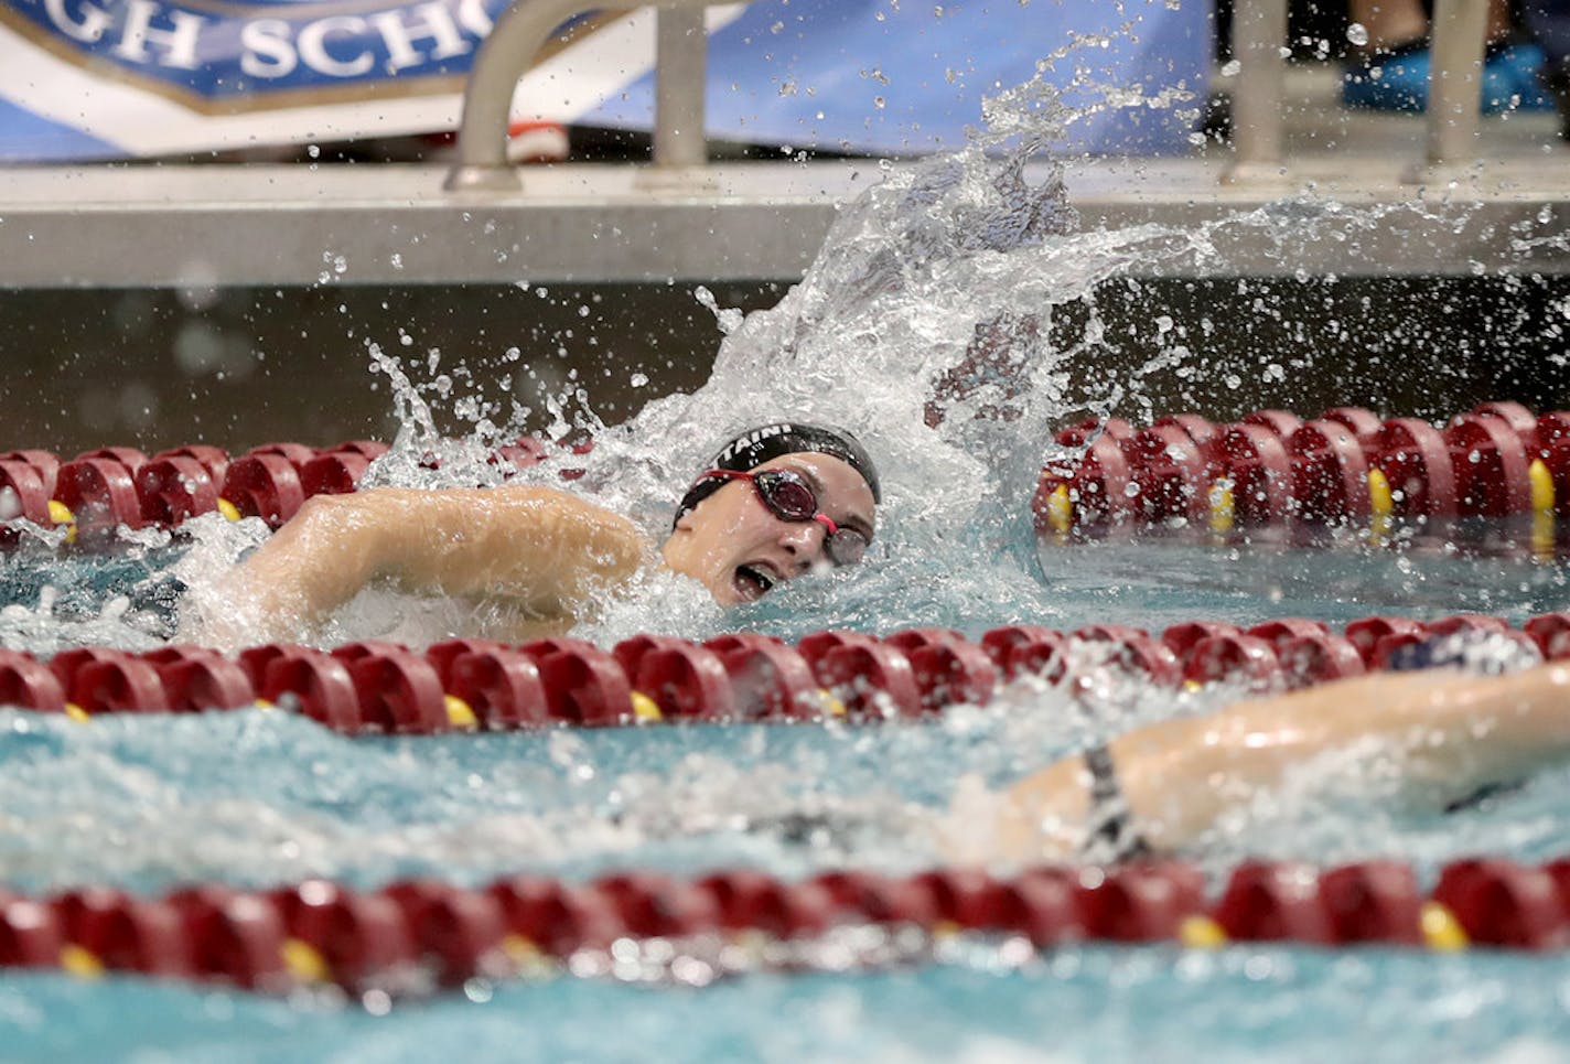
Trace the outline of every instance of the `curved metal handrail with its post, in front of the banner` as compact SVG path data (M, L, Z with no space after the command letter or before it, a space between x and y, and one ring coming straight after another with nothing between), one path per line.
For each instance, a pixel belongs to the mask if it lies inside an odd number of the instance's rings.
M703 140L703 85L708 39L703 9L732 0L515 0L495 28L469 72L458 127L458 163L447 174L449 190L507 191L520 187L507 162L507 126L512 96L534 56L564 22L584 11L633 11L655 6L655 163L699 166L706 160Z

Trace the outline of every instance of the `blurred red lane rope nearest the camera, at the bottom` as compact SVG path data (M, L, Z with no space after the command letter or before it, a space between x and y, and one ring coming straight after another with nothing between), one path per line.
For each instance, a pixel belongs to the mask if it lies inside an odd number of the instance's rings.
M791 942L865 924L1011 935L1038 949L1294 942L1550 951L1570 943L1570 860L1455 862L1427 891L1396 862L1328 871L1251 862L1215 895L1196 868L1176 862L1047 866L1006 879L937 869L780 880L738 869L692 880L633 871L587 884L510 876L479 888L414 879L364 891L327 880L267 891L195 885L160 898L107 887L47 898L0 891L0 968L127 971L275 993L312 984L413 990L548 973L623 938Z

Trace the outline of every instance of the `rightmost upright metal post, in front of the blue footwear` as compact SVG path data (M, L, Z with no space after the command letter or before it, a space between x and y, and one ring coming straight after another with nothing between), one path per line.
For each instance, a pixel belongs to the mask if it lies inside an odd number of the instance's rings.
M1429 166L1454 166L1477 154L1488 0L1437 0L1429 69Z

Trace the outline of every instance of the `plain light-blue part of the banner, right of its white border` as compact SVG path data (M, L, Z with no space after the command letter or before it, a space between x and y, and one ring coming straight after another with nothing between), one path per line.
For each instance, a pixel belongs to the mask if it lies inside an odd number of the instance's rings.
M708 132L747 143L925 154L964 143L981 100L1038 75L1079 108L1063 151L1190 151L1210 72L1209 5L776 0L711 36ZM1049 63L1046 69L1039 69ZM1075 88L1075 83L1079 88ZM1185 104L1108 107L1105 89ZM647 129L653 77L584 115Z

